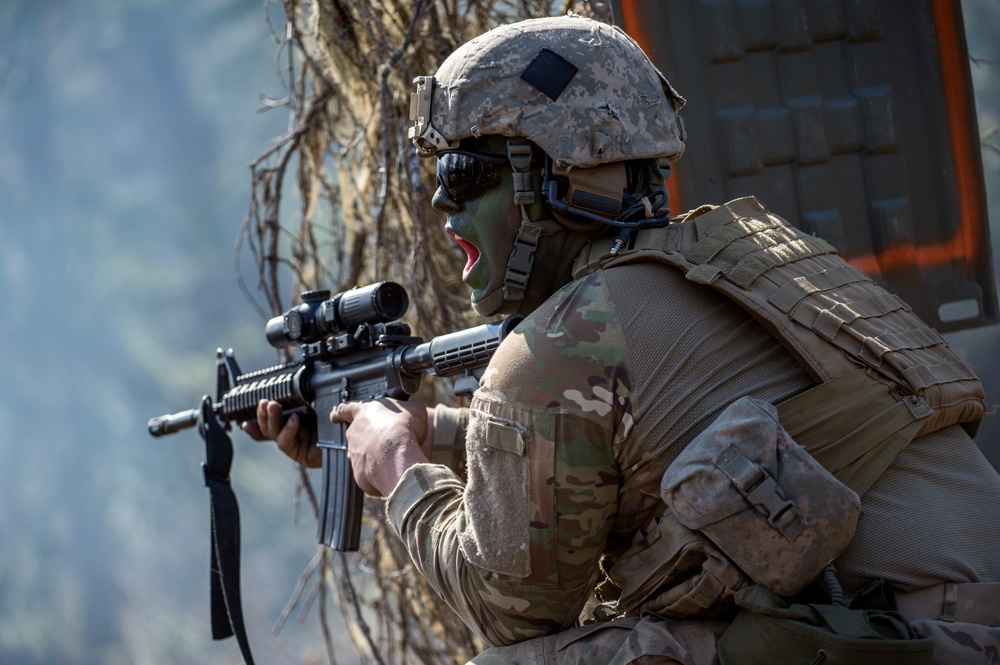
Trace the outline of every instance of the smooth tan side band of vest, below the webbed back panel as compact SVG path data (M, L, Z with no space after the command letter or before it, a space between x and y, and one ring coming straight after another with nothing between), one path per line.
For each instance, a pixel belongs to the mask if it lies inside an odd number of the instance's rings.
M919 397L894 394L864 369L821 383L777 408L792 438L858 496L932 413Z

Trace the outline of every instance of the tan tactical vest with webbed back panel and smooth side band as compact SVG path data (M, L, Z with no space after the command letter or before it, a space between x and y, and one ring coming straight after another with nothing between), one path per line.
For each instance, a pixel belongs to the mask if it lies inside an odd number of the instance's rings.
M755 198L699 208L615 245L601 238L584 248L574 278L659 261L738 303L819 384L778 405L782 424L859 494L914 437L953 424L978 431L985 394L972 367L902 299ZM872 442L884 450L872 453Z

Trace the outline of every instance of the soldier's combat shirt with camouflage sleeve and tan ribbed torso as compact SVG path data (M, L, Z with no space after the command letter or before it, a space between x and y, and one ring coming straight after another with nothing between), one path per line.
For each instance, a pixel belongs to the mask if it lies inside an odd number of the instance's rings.
M700 431L740 397L778 403L813 385L760 323L675 268L597 269L497 351L470 407L467 479L413 467L389 521L489 644L557 632L662 513L663 472ZM912 442L862 508L837 562L848 591L880 577L902 589L1000 580L988 545L1000 479L960 426ZM993 537L955 548L970 531Z

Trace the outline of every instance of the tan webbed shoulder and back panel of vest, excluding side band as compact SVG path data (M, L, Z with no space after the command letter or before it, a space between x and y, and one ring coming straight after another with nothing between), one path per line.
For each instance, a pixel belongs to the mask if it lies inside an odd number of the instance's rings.
M941 335L831 245L794 229L756 199L703 207L666 228L640 231L614 255L610 245L602 238L585 249L574 277L633 261L672 265L737 302L817 382L867 368L871 380L885 383L920 420L915 436L955 423L972 436L978 431L982 385Z

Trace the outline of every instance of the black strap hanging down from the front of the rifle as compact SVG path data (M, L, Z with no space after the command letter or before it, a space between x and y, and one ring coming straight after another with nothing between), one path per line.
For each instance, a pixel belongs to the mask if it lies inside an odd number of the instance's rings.
M205 486L211 500L211 613L212 639L233 635L246 665L254 665L243 624L240 595L240 511L229 482L233 443L212 411L207 397L202 402L199 433L205 439Z

